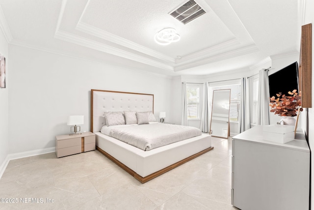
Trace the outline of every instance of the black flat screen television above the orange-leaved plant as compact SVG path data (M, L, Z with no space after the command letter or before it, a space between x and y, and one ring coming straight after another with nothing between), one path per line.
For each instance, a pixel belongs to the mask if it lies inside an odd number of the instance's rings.
M289 95L288 91L297 90L299 93L299 65L298 62L286 66L285 68L268 76L269 97L281 92L282 95Z

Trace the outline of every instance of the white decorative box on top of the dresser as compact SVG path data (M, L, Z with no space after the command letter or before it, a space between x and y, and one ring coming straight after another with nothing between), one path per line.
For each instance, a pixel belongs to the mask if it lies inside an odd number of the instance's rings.
M294 140L294 125L263 125L263 140L285 144Z

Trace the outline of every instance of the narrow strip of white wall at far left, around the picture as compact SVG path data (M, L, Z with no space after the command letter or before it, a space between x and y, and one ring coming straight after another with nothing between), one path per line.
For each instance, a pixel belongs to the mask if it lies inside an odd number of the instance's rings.
M0 177L2 169L4 169L5 159L8 155L9 148L9 57L8 57L8 44L0 30L0 54L6 59L6 88L0 88Z

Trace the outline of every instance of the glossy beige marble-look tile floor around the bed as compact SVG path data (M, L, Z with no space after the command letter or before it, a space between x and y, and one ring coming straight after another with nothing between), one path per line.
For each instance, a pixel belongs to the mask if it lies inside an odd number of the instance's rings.
M97 150L11 160L0 179L0 198L18 203L0 203L0 209L236 210L231 205L231 139L212 137L212 146L144 184Z

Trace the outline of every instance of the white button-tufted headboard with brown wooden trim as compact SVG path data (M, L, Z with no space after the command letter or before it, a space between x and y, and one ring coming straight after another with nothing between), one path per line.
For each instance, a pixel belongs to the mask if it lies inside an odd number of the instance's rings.
M152 111L154 95L109 90L91 90L91 132L98 132L105 125L104 112Z

